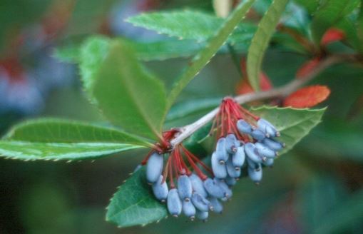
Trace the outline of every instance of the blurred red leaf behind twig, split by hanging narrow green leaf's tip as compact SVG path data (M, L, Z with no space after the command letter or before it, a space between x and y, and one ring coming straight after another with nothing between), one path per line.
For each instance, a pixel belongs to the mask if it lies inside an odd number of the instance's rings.
M237 94L254 93L255 91L250 85L250 82L248 82L245 59L241 61L241 71L243 73L244 79L239 83L237 83L235 92ZM272 88L272 83L270 81L270 78L268 78L268 76L263 72L260 73L260 88L262 91L267 91Z

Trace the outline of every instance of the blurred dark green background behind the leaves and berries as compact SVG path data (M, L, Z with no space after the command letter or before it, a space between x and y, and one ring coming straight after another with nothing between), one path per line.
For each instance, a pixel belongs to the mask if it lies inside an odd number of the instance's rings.
M180 7L213 11L205 0L1 0L0 66L9 69L4 64L11 61L8 76L0 69L1 132L37 116L103 121L81 91L75 66L55 59L42 65L56 46L77 44L90 34L152 40L158 36L120 24L120 19ZM274 86L280 86L305 60L272 46L264 69ZM170 83L186 63L170 59L147 65ZM239 80L230 56L217 56L179 101L234 95ZM332 90L320 105L329 107L323 122L264 171L260 186L241 180L223 215L212 214L208 223L167 218L123 229L106 223L109 199L145 155L133 151L94 162L2 159L0 233L362 233L363 69L334 66L314 83ZM182 126L201 115L168 126Z

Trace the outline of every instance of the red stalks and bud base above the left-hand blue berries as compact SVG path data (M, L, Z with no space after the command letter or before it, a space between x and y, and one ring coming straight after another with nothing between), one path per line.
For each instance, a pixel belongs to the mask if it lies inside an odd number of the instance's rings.
M175 188L175 178L178 179L180 175L191 175L192 171L190 170L193 170L202 180L207 179L208 176L205 175L200 168L203 168L206 172L210 173L210 175L213 175L212 169L200 161L197 156L188 151L183 144L178 144L174 148L171 148L170 141L175 138L176 133L178 133L177 129L163 132L163 138L160 139L160 142L155 143L153 150L148 153L141 162L141 165L145 165L155 151L159 154L168 153L168 160L163 169L163 182L165 180L169 181L170 188Z

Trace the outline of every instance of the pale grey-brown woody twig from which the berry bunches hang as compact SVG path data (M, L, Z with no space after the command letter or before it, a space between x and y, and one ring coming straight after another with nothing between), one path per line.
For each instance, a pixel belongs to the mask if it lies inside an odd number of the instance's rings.
M300 88L308 81L311 81L312 78L315 78L319 73L324 71L327 67L331 66L334 63L338 63L339 61L345 61L352 59L350 56L329 56L327 59L324 59L319 63L319 65L315 68L314 71L311 71L310 73L307 73L307 75L295 78L290 83L287 83L285 86L282 86L280 88L274 88L270 91L264 91L264 92L258 92L258 93L247 93L244 95L236 96L235 101L240 104L249 103L251 101L257 101L257 100L263 100L267 98L275 98L275 97L284 97L289 95L290 93L297 90L297 88ZM199 128L202 128L207 124L208 122L212 121L213 118L217 115L219 111L219 107L215 108L213 111L210 111L202 118L198 119L198 121L195 121L194 123L191 123L188 126L184 126L183 128L180 128L180 133L178 136L176 136L172 141L170 141L171 145L174 147L178 145L179 143L183 142L186 138L191 136L195 131L197 131Z

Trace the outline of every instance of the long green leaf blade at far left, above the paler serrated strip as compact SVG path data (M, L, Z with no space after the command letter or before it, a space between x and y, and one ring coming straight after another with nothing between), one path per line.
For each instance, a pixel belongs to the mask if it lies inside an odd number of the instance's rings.
M137 136L115 128L96 126L79 121L40 118L24 121L11 128L6 140L39 143L130 143L151 146Z

